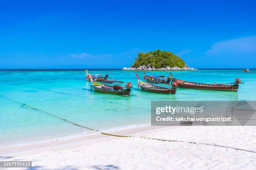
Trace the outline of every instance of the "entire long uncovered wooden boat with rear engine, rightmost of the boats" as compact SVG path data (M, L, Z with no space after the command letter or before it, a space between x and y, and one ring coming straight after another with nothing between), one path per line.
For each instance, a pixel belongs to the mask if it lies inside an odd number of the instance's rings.
M171 73L172 75L172 73ZM237 92L238 87L241 82L240 78L236 78L236 82L224 83L224 84L207 84L200 82L190 82L185 80L179 80L172 76L172 87L184 87L184 88L193 88L193 89L201 89L201 90L224 90L224 91L233 91Z

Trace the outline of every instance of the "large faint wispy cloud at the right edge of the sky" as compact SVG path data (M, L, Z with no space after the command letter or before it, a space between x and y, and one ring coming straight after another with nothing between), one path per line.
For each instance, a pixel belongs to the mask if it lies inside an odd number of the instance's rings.
M246 53L256 54L256 35L240 37L232 40L224 40L211 45L211 49L205 52L208 55L223 53Z

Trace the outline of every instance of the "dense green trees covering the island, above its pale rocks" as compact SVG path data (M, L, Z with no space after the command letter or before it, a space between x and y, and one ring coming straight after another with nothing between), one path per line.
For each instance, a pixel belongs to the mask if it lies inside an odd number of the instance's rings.
M182 58L178 57L172 52L169 51L161 51L156 50L152 52L140 52L138 54L138 58L136 57L136 60L132 67L139 67L142 65L148 65L151 64L152 66L155 66L155 68L164 68L164 67L180 67L183 68L187 66L186 62L182 60Z

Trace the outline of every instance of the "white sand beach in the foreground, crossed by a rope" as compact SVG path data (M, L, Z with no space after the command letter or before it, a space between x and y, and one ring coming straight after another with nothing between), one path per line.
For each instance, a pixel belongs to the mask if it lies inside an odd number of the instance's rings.
M111 133L135 137L98 134L0 148L0 160L32 161L33 170L256 169L253 126L143 127Z

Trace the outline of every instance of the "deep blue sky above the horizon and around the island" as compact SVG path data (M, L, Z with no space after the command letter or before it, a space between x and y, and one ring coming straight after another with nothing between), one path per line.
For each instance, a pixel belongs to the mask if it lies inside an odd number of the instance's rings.
M255 0L4 0L0 68L123 68L157 49L196 68L255 68L255 9Z

